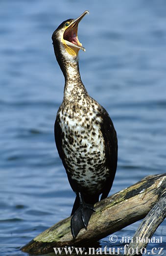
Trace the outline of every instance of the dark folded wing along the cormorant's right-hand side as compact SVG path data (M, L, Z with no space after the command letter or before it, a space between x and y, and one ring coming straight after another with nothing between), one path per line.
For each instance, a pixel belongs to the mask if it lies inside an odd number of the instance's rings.
M110 170L110 177L107 179L102 191L102 200L108 196L115 178L118 160L118 139L113 122L104 108L102 108L101 118L103 122L100 124L100 126L105 142L106 165Z

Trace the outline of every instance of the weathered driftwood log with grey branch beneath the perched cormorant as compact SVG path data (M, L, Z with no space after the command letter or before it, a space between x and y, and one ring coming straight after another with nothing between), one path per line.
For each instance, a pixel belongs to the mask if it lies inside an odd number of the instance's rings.
M75 240L71 235L69 217L39 234L22 251L38 255L54 252L54 247L93 247L101 238L145 216L128 249L135 249L137 246L140 249L145 248L147 242L138 244L135 237L151 238L166 217L166 174L147 176L131 187L96 203L88 229L82 229Z

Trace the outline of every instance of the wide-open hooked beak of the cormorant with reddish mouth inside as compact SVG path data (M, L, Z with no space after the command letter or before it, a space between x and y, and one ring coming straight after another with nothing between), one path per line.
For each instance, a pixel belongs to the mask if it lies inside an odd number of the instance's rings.
M89 11L84 11L78 18L71 21L70 25L67 27L63 34L65 44L74 50L75 54L77 54L80 49L85 52L85 48L78 40L77 32L79 22L87 13L89 13Z

